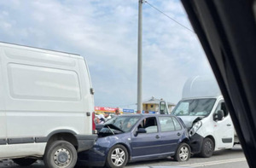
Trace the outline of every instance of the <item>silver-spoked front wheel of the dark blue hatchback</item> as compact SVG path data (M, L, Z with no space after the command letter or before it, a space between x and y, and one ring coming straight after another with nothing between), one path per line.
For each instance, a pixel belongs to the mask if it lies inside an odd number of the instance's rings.
M114 145L108 151L108 158L106 165L108 168L121 168L125 167L128 161L128 152L123 145Z

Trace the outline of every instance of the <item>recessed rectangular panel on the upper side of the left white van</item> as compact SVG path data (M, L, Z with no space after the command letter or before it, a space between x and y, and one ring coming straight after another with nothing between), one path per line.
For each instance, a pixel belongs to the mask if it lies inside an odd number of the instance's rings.
M79 76L76 72L15 63L9 63L7 68L10 96L14 99L81 100Z

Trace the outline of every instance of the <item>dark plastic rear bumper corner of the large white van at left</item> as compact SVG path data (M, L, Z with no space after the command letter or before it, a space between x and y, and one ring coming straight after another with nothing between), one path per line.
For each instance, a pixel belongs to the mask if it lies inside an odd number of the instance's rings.
M76 135L78 140L78 152L82 152L92 148L96 142L97 135L81 136Z

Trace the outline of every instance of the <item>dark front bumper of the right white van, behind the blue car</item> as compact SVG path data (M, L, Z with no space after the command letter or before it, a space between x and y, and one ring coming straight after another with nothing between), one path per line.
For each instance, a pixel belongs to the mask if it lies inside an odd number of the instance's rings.
M201 153L202 142L204 141L204 137L195 133L193 136L190 136L189 146L191 148L192 154Z

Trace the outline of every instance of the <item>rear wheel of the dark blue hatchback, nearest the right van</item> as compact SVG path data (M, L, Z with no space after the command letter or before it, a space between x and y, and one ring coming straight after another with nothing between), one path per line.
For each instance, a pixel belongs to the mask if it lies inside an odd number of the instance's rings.
M174 155L176 161L188 161L190 158L191 150L187 143L180 143Z

